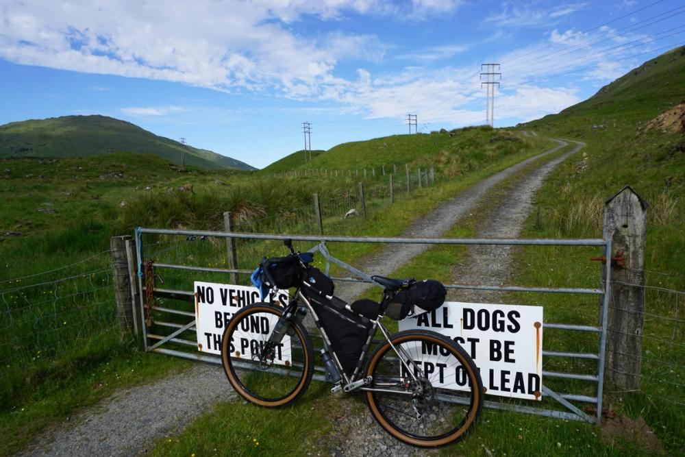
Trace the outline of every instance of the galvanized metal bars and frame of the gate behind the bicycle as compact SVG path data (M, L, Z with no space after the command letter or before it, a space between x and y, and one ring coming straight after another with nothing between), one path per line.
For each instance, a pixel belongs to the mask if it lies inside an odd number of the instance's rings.
M310 251L321 251L323 256L326 258L327 267L331 263L338 264L340 267L351 271L354 275L358 275L358 278L353 277L333 277L336 281L345 282L369 282L373 283L371 276L367 275L363 271L355 269L345 262L338 260L331 256L328 252L325 242L341 242L341 243L394 243L394 244L427 244L427 245L549 245L549 246L601 246L603 247L603 252L606 258L610 257L611 254L611 240L601 240L601 239L579 239L579 240L554 240L554 239L531 239L531 240L521 240L521 239L503 239L503 238L493 238L493 239L483 239L483 238L373 238L373 237L353 237L353 236L307 236L307 235L276 235L276 234L251 234L251 233L226 233L226 232L210 232L210 231L192 231L192 230L166 230L166 229L149 229L149 228L136 228L136 246L138 247L136 251L136 256L138 260L138 288L142 297L145 297L145 286L142 282L142 262L144 259L142 250L142 234L169 234L169 235L195 235L195 236L215 236L219 238L242 238L242 239L258 239L258 240L294 240L294 241L312 241L317 243ZM245 269L221 269L221 268L211 268L211 267L186 267L184 265L177 264L155 264L155 267L159 268L169 268L169 269L183 269L188 271L203 271L208 273L240 273L240 274L251 274L251 270ZM599 423L601 419L601 395L603 390L603 369L606 359L606 323L608 319L608 303L609 303L609 284L610 284L610 264L605 264L606 269L605 277L606 280L601 284L601 288L547 288L547 287L521 287L521 286L469 286L462 284L449 284L446 285L447 288L456 289L471 289L471 290L486 290L486 291L499 291L499 292L534 292L534 293L571 293L571 294L586 294L586 295L601 295L601 315L599 318L599 326L595 327L593 325L575 325L566 323L545 323L545 328L547 329L558 329L558 330L570 330L570 331L580 331L580 332L592 332L599 333L599 354L593 353L581 353L581 352L570 352L570 351L543 351L543 356L545 357L569 357L569 358L579 358L584 360L598 360L598 373L597 375L588 375L580 373L558 373L554 371L543 371L543 376L548 378L562 378L562 379L573 379L582 380L586 382L596 382L597 383L597 397L590 397L588 395L577 395L573 393L556 393L552 391L549 387L543 386L543 394L547 395L551 399L567 408L566 411L535 408L530 406L522 406L519 404L507 404L486 401L485 405L488 408L495 408L499 410L513 410L518 412L526 412L535 415L543 415L547 417L556 417L562 419L572 419L579 421L588 421L593 423ZM173 289L161 289L155 288L155 295L163 297L171 297L175 299L192 299L194 293L188 291L177 291ZM188 323L186 325L171 323L165 321L153 321L154 325L160 325L162 327L175 329L168 336L162 336L158 334L147 334L147 328L145 327L145 321L143 318L145 304L141 302L141 318L143 319L143 332L145 347L147 350L158 352L160 354L169 354L172 356L179 356L183 358L190 358L192 360L203 360L212 363L221 363L221 359L215 356L207 356L204 354L192 354L184 351L177 351L175 349L166 349L162 346L164 343L172 342L185 346L197 346L197 342L192 340L186 340L184 338L178 338L177 336L186 331L196 331L195 321ZM194 316L192 312L184 312L181 310L173 310L171 308L164 308L160 306L154 306L153 310L159 312L167 312L171 314L182 314L184 316ZM151 340L156 340L157 342L151 347L148 346L148 338ZM323 373L321 367L315 367L317 371ZM314 379L326 381L326 377L323 374L315 374ZM570 401L574 402L584 402L592 403L597 405L597 419L588 416L580 408L577 408Z

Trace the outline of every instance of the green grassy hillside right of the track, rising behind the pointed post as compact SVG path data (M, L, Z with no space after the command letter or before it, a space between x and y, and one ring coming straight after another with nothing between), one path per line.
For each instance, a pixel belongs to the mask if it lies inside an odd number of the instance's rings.
M523 127L540 135L571 136L587 143L586 157L559 166L540 190L538 212L527 221L524 236L601 237L604 202L625 185L649 203L643 354L634 355L643 359L643 378L640 391L616 392L606 386L605 403L619 415L644 419L673 455L685 446L685 332L682 314L677 314L685 290L685 134L645 129L645 125L684 97L685 48L679 48L645 62L590 99ZM593 262L582 258L540 269L538 261L543 256L564 258L566 254L562 249L526 251L519 258L516 282L563 284L593 277L596 269ZM580 309L575 297L573 301L544 298L550 309L573 310L571 317ZM545 343L547 339L545 335ZM584 366L589 371L596 369L592 364ZM554 367L549 369L554 371ZM625 437L628 441L633 438Z

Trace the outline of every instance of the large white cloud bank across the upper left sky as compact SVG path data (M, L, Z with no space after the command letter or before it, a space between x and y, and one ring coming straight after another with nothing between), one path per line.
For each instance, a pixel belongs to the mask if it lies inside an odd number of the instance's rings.
M371 0L26 0L0 6L0 57L218 90L276 88L299 97L334 84L339 60L379 60L384 47L370 35L303 38L286 23L303 14L334 18L373 8Z

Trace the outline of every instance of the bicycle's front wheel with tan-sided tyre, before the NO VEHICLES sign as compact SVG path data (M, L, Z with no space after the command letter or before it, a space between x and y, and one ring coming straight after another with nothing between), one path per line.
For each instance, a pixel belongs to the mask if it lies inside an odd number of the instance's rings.
M314 349L299 321L288 323L282 341L269 337L283 314L271 304L253 304L236 312L221 341L226 377L249 402L271 408L294 402L314 373Z

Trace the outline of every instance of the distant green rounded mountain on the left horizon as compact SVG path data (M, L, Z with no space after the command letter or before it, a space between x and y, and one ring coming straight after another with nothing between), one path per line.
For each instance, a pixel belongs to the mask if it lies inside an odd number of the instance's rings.
M62 116L0 125L0 158L103 156L151 153L181 163L181 143L108 116ZM186 164L201 169L254 170L253 166L206 149L186 146Z

